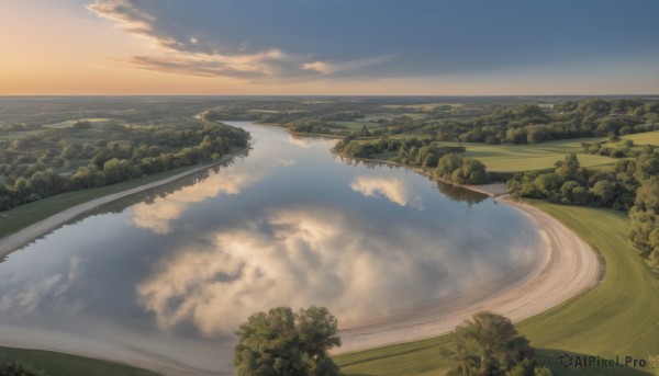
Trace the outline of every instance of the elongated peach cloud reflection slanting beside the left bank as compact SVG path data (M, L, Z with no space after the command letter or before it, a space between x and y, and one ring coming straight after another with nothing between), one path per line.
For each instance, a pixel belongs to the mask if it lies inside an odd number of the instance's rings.
M171 221L176 220L191 204L199 203L221 193L238 194L241 190L265 179L277 168L290 166L293 161L270 158L264 162L248 163L237 168L223 168L217 173L180 191L158 197L152 203L141 203L133 207L133 225L155 233L169 233Z

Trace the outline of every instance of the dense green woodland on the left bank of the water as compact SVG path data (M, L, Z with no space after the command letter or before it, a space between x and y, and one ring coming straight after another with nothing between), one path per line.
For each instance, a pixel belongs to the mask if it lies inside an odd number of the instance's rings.
M246 147L249 135L223 124L177 126L105 126L97 139L71 143L82 126L46 129L11 141L0 151L0 210L63 192L103 186L170 169L217 160L232 146ZM67 137L68 136L68 137Z

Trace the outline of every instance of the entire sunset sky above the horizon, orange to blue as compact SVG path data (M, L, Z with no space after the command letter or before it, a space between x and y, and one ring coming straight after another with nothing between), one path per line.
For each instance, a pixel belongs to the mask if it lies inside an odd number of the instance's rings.
M0 0L0 95L658 94L656 0Z

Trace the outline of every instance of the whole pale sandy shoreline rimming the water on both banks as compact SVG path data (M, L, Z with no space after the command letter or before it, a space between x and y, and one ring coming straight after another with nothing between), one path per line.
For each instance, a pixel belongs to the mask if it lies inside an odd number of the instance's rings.
M85 212L93 209L99 205L170 183L232 160L235 157L236 155L225 156L222 160L214 163L194 168L157 182L107 195L68 208L57 215L0 239L0 255L7 254L19 247L48 233L66 221ZM342 157L350 158L346 156ZM368 159L359 160L403 167L436 180L435 176L432 176L421 169L411 168L404 164ZM461 185L453 182L446 183L487 194L491 197L495 196L495 194L491 192L483 192L482 190L469 185ZM506 286L503 290L498 288L500 285L494 285L494 287L489 286L489 289L483 288L481 290L469 292L468 294L459 294L442 300L431 301L412 312L405 311L400 315L391 315L383 318L371 318L370 322L364 320L359 322L358 327L342 329L340 335L344 346L336 353L361 351L442 335L453 331L463 319L469 318L474 312L483 309L502 314L513 321L520 321L548 310L597 284L601 267L600 259L590 246L574 232L570 231L557 219L528 204L513 202L505 197L498 198L496 201L518 209L533 223L534 227L541 235L543 241L538 243L537 248L539 252L544 252L545 258L537 270L516 284L503 284ZM19 334L16 335L20 337ZM16 345L20 343L26 342L19 341L12 344ZM40 345L32 342L30 347L38 349ZM53 346L49 347L51 349L48 350L57 351L56 349L53 349ZM130 356L130 352L112 353L101 351L96 353L91 347L87 347L86 350L85 347L78 350L70 347L64 351L78 354L85 353L83 355L96 356L99 358L113 357L114 361L119 360L119 362L150 368L165 374L183 374L183 371L186 371L185 374L190 375L205 374L203 371L190 369L186 365L177 364L172 360L161 357L155 358L149 354Z

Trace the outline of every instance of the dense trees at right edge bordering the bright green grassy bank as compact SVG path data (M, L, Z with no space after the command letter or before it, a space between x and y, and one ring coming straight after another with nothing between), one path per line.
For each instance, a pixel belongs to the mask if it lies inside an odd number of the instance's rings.
M517 173L507 182L513 197L544 198L567 205L628 212L629 239L652 267L659 267L659 153L644 147L619 160L613 171L581 168L568 155L551 172Z

